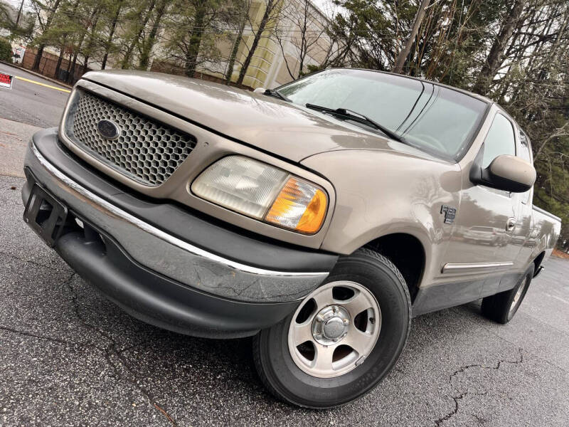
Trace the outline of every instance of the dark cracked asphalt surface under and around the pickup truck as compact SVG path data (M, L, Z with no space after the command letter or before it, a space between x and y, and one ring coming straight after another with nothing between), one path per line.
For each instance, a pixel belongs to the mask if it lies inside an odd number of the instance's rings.
M250 339L166 332L105 300L21 221L22 185L0 176L0 426L568 425L568 260L548 261L508 325L479 302L417 317L378 389L304 410L265 393Z

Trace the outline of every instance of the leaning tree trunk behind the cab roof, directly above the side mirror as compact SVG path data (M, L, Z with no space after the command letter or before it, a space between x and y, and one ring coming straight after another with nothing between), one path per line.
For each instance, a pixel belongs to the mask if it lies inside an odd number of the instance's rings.
M508 43L512 33L514 33L514 28L516 28L516 24L520 19L523 6L526 6L526 1L527 0L516 0L511 12L507 14L502 21L500 33L498 37L496 37L496 40L494 40L494 44L482 66L482 70L480 70L476 83L474 83L473 92L479 93L480 95L486 95L489 92L491 81L494 79L494 75L496 75L498 68L504 60L506 43Z

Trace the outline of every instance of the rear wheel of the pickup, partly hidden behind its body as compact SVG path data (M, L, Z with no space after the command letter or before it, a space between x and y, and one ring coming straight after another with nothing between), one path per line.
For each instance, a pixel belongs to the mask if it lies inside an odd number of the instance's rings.
M533 278L533 263L526 273L521 276L514 289L485 297L482 300L482 315L501 324L506 324L514 318L523 298L526 297L531 279Z

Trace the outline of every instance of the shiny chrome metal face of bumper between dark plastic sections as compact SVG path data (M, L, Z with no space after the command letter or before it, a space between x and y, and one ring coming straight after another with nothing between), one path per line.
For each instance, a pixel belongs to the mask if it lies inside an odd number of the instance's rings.
M237 301L287 302L304 297L328 275L265 270L208 253L92 193L48 162L33 143L26 167L70 210L115 238L138 263L191 288Z

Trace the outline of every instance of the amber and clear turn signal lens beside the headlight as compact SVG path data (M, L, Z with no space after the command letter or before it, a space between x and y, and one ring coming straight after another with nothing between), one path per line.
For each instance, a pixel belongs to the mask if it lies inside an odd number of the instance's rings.
M319 231L328 200L324 191L302 179L290 177L265 216L265 221L305 234Z

